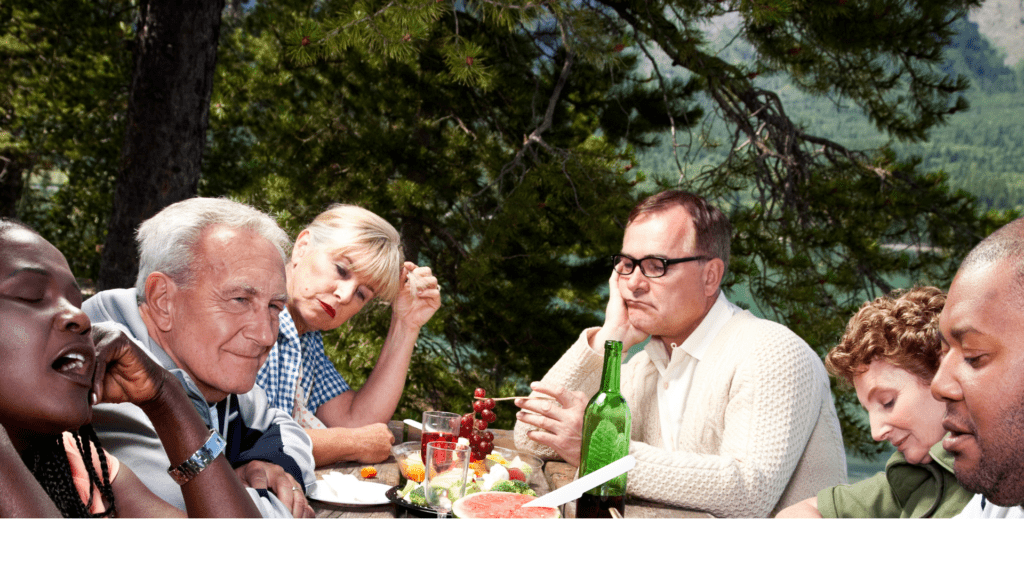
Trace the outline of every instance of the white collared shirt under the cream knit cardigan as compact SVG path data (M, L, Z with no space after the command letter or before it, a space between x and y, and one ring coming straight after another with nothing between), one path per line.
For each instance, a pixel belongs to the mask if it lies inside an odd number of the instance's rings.
M662 419L662 442L665 443L663 448L675 450L679 444L683 409L686 407L686 398L693 383L697 363L707 354L708 347L729 319L742 310L719 292L715 303L696 329L681 345L672 344L671 358L660 340L651 338L644 347L660 374L657 383L657 406Z

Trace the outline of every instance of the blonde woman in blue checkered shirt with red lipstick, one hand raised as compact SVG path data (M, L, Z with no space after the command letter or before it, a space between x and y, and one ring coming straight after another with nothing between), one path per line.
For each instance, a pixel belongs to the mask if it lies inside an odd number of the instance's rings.
M394 438L387 421L420 329L440 307L430 269L403 260L394 227L358 206L332 206L295 240L286 266L288 306L256 383L306 428L317 466L388 457ZM327 358L321 333L375 299L391 304L391 326L373 372L353 390Z

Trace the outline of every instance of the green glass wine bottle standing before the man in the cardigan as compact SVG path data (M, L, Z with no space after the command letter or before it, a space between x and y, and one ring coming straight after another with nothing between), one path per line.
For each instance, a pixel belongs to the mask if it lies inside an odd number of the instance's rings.
M601 389L587 404L583 419L580 476L586 476L630 453L630 407L618 392L623 343L604 342ZM626 475L592 488L577 500L577 518L611 518L611 508L626 515Z

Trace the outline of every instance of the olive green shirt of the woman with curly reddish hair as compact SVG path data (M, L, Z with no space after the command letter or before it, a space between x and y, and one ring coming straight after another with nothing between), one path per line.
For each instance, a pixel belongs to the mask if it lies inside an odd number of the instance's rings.
M911 464L896 452L886 470L848 486L818 492L824 518L951 518L974 496L953 476L953 456L939 442L928 451L932 461Z

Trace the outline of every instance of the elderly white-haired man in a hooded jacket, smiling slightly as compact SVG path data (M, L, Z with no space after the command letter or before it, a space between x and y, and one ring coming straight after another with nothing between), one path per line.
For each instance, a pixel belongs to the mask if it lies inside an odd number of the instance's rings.
M169 462L141 409L99 405L93 426L103 446L178 507L179 485L224 451L264 517L311 517L309 437L255 386L288 299L288 235L244 204L193 198L143 222L137 240L135 287L102 291L82 308L93 322L117 323L180 380L210 440L188 460Z

